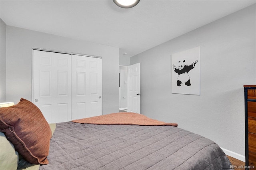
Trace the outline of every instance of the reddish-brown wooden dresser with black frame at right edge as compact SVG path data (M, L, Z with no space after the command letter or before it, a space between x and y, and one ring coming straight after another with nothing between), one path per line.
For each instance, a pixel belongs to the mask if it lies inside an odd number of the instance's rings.
M244 85L245 165L256 169L256 85Z

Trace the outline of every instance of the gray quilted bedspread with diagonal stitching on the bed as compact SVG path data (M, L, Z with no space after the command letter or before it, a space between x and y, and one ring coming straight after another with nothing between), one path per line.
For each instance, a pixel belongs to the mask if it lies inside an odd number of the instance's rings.
M220 147L172 126L57 123L40 170L226 170Z

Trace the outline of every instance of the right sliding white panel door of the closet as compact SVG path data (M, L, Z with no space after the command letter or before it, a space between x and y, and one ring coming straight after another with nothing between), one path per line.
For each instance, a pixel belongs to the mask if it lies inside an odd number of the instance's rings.
M102 59L72 55L72 120L102 115Z

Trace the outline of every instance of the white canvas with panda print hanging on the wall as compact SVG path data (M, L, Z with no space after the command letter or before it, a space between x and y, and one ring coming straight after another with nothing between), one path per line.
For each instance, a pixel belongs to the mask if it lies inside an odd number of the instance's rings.
M200 47L171 55L172 93L200 95Z

